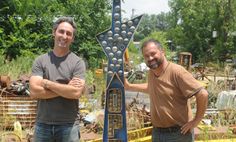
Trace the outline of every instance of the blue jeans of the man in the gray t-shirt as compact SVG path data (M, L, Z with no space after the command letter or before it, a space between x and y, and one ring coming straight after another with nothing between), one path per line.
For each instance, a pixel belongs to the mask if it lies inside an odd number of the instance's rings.
M36 123L34 142L79 142L79 124Z

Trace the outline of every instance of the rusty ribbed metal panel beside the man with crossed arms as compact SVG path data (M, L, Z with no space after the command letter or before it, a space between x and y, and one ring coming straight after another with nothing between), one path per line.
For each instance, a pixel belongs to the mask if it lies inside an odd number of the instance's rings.
M12 128L19 121L22 128L31 128L35 123L37 101L29 96L5 94L0 96L0 126Z

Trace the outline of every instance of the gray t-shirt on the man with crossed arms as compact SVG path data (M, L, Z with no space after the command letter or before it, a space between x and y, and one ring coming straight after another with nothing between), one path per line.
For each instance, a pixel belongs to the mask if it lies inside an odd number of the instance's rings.
M85 63L72 52L64 57L57 57L51 51L39 56L32 67L33 76L42 76L61 84L68 84L73 77L85 79ZM56 97L38 100L37 122L46 124L73 123L78 113L77 99Z

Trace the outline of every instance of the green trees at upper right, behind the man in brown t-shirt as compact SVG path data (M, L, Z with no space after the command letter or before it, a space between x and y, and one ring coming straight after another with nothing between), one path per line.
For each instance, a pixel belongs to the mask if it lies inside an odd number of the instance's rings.
M180 50L191 52L193 61L224 61L236 52L236 38L231 34L236 31L235 1L171 0L169 4L172 20L167 37Z

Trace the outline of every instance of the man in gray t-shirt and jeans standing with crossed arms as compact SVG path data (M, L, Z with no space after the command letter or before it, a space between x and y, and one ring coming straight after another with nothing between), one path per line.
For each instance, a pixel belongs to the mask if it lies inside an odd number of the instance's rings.
M85 85L85 63L69 49L76 26L72 18L54 24L54 48L32 67L30 96L38 100L36 142L78 142L78 99Z

